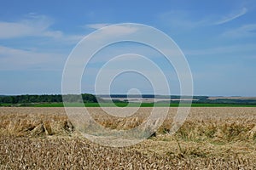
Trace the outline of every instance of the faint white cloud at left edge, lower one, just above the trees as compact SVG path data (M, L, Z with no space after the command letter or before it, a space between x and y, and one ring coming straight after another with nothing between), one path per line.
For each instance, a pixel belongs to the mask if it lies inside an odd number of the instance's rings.
M35 51L0 46L0 70L58 70L64 65L63 54L39 53Z

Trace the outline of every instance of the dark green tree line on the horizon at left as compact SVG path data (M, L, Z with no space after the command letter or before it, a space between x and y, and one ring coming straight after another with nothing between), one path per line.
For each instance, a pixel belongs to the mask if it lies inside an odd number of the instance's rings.
M82 98L81 98L82 95ZM93 94L67 94L63 98L67 102L96 103L96 96ZM58 103L62 102L61 94L44 94L44 95L16 95L16 96L0 96L0 103L5 104L22 104L22 103Z

